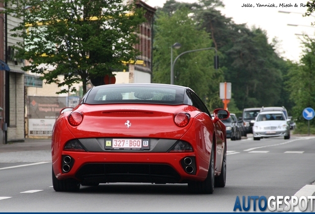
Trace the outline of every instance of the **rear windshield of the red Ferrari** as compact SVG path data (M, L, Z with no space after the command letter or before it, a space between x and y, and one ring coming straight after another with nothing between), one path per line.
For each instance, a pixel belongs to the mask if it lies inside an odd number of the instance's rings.
M86 104L109 103L151 103L151 104L183 104L184 89L175 87L161 88L153 86L126 87L94 87L89 92Z

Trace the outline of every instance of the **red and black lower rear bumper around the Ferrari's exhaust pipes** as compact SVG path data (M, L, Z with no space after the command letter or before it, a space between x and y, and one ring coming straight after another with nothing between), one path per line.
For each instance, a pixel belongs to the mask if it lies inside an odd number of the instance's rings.
M73 162L63 171L64 157ZM184 159L193 161L185 164ZM53 161L57 179L75 178L80 182L142 182L187 183L203 181L207 173L200 170L194 153L97 153L63 151L60 160ZM187 172L187 167L193 167Z

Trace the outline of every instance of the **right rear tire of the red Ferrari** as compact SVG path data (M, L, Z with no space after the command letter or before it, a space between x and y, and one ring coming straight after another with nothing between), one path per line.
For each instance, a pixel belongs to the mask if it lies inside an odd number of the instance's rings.
M212 194L214 191L214 149L212 144L212 150L210 155L210 165L208 170L208 176L205 181L190 181L188 182L188 189L192 193L198 194Z

